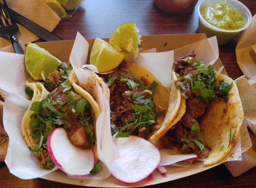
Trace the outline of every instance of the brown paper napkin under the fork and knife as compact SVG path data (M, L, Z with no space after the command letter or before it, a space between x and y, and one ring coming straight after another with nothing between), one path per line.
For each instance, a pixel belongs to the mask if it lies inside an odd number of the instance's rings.
M9 8L18 12L22 16L25 16L29 20L32 20L50 32L59 24L59 16L46 4L45 0L6 1ZM3 4L2 0L0 0L0 2ZM19 26L19 32L16 34L16 37L22 47L25 47L24 44L27 42L33 42L39 39L34 33L29 31L29 29L26 29L24 26L19 24L17 25ZM9 52L8 48L12 48L10 40L0 37L0 51Z

